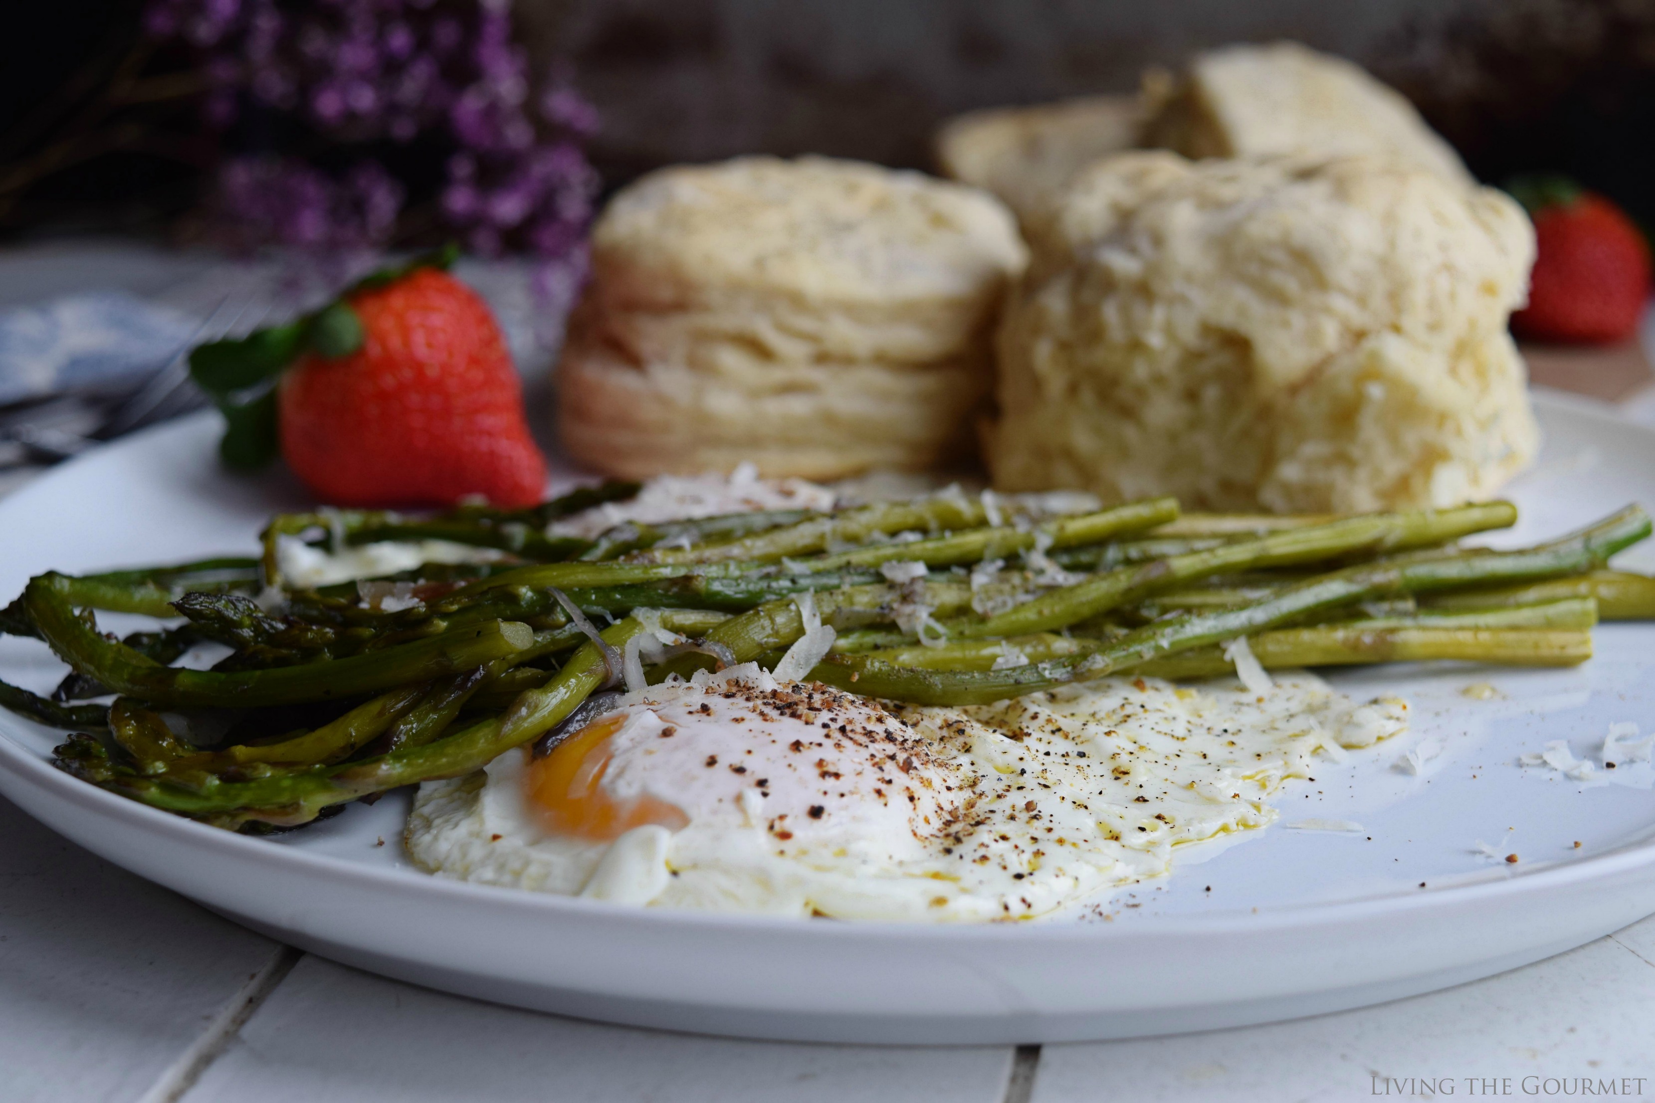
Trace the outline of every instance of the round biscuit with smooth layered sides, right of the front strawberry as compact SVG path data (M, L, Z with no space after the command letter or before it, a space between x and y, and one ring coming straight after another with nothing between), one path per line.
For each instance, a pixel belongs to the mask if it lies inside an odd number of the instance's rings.
M745 157L650 174L592 232L563 443L629 476L958 458L1023 261L993 197L914 172Z

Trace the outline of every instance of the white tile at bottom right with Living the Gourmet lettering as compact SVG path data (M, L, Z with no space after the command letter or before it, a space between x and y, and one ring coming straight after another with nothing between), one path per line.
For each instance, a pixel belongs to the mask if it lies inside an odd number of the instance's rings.
M1632 946L1642 946L1642 957ZM1298 1022L1172 1039L1048 1045L1033 1103L1334 1103L1430 1098L1418 1078L1642 1077L1655 1098L1655 918L1614 938L1446 992ZM1534 1093L1524 1093L1524 1077ZM1377 1078L1377 1080L1375 1080ZM1407 1090L1407 1088L1412 1088ZM1557 1095L1562 1096L1562 1085ZM1446 1095L1446 1093L1440 1093ZM1579 1098L1581 1091L1572 1091Z

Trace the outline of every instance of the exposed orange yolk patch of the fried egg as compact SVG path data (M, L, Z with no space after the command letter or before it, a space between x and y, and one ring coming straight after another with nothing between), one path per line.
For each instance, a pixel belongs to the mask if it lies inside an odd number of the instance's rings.
M609 842L645 824L674 832L688 825L690 817L675 804L649 794L617 799L604 789L604 774L614 757L609 739L626 719L626 713L594 719L551 754L530 762L528 804L546 832Z

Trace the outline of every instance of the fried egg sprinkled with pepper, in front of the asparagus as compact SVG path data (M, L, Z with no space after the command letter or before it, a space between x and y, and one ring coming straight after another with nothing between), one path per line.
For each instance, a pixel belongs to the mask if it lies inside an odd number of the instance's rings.
M1268 825L1317 752L1405 728L1405 703L1309 673L943 709L745 665L631 693L543 757L425 782L405 843L440 876L659 908L1028 919Z

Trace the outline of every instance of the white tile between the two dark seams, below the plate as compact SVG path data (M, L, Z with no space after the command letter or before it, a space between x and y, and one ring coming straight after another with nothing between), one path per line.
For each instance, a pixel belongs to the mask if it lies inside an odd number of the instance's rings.
M1010 1067L1010 1048L784 1045L604 1027L305 957L184 1100L1000 1103Z

